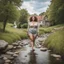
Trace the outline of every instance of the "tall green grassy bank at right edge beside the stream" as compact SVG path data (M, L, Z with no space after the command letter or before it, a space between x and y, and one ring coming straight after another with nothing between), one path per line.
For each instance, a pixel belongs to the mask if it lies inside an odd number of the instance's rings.
M64 29L52 33L44 45L55 53L64 54Z

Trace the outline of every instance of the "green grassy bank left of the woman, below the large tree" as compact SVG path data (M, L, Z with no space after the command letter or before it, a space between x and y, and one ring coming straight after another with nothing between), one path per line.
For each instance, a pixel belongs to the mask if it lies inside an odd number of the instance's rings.
M12 26L13 26L12 24L8 23L6 26L6 32L2 32L0 30L1 40L5 40L8 43L13 43L16 40L27 38L26 29L16 29L16 28L13 28ZM2 28L2 24L0 25L0 27Z

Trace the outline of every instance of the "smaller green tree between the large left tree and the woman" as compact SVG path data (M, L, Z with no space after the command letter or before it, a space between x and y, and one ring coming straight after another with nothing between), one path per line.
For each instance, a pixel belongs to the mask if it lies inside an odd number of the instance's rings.
M19 27L21 27L21 24L27 23L28 15L29 14L26 9L20 10Z

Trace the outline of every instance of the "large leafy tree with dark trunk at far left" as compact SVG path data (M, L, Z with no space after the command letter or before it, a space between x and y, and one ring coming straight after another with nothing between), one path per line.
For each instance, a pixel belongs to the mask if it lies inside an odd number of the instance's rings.
M7 21L15 21L19 18L18 7L22 0L0 0L0 21L3 22L3 31Z

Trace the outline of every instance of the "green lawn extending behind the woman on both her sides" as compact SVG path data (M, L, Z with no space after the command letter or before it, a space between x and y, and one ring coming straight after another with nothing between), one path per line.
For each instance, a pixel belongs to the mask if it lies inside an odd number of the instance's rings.
M3 24L0 22L0 39L5 40L8 43L13 43L16 40L20 39L26 39L28 38L27 36L27 29L18 29L18 28L13 28L13 24L7 23L6 25L6 32L2 32L2 27ZM58 26L52 26L52 27L44 27L40 28L39 34L44 34L44 33L50 33L54 27L59 27Z

